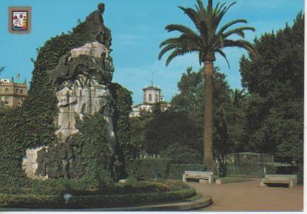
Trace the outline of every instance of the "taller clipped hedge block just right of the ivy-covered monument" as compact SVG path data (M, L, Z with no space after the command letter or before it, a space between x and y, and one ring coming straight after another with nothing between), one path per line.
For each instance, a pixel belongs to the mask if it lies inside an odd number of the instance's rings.
M128 160L126 171L130 177L135 177L137 180L154 180L156 172L159 178L166 179L170 162L169 158Z

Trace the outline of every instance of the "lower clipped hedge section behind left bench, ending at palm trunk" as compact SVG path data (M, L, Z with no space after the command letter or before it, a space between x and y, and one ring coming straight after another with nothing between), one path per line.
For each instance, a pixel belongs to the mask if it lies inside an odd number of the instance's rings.
M168 179L182 180L184 171L206 171L205 165L201 164L170 164L168 168Z

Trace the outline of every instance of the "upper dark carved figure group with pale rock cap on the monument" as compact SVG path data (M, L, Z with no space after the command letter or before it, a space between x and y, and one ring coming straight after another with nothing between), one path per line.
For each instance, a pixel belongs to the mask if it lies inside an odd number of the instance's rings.
M99 42L85 44L61 56L54 70L47 71L56 87L89 87L108 84L114 72L113 60L106 46Z

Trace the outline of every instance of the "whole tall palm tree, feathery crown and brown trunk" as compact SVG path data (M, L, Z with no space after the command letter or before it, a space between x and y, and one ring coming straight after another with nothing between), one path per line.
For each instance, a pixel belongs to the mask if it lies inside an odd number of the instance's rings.
M237 27L232 28L237 23L247 23L244 19L233 20L222 27L219 27L220 22L229 10L230 6L225 4L216 4L213 8L213 1L208 0L208 6L205 8L201 0L196 0L196 10L193 8L184 8L179 6L185 14L189 16L196 27L196 31L184 25L167 25L165 30L168 32L180 32L179 37L166 39L160 44L162 48L158 59L161 60L162 56L172 51L166 59L166 66L176 56L182 56L186 53L196 52L199 53L199 63L203 63L203 73L205 75L204 82L204 99L205 99L205 115L204 115L204 135L203 135L203 162L207 165L208 169L214 171L213 161L213 62L215 61L215 53L219 53L227 61L226 54L223 48L239 47L246 49L251 53L255 53L252 44L246 42L244 39L230 39L234 34L244 38L244 31L255 31L253 27ZM229 63L227 61L229 66Z

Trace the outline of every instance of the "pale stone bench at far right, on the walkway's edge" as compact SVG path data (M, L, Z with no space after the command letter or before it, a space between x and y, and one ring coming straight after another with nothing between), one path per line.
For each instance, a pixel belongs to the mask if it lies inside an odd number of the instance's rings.
M261 178L260 186L265 187L267 184L288 184L292 189L297 184L297 175L265 175Z

